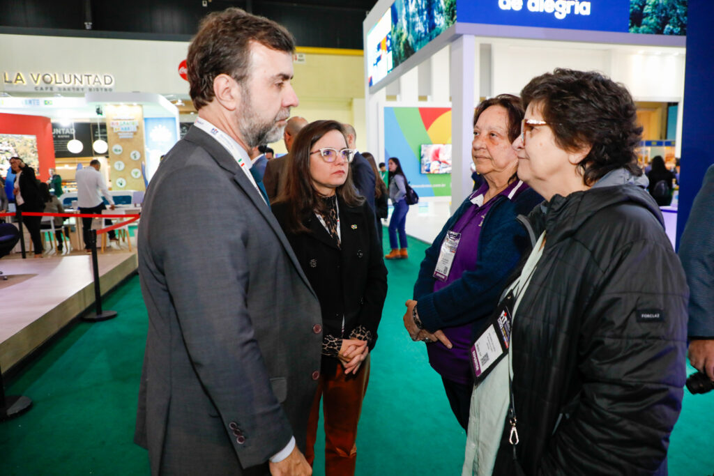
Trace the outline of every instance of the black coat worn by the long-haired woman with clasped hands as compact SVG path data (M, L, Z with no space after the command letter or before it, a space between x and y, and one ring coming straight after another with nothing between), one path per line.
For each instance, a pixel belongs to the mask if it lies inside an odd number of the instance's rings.
M320 301L325 335L348 338L363 325L372 333L372 349L387 295L387 269L368 205L349 207L338 201L338 206L341 248L314 213L303 218L309 233L288 231L285 203L273 205L273 213ZM323 372L333 371L336 364L335 358L323 358Z

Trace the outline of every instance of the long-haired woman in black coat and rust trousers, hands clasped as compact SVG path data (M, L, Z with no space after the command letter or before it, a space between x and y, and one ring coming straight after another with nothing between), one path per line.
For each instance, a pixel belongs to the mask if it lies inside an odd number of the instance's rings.
M323 335L322 365L308 420L306 458L312 465L322 400L326 475L353 475L357 423L387 293L387 270L374 215L352 184L354 151L347 148L341 123L308 124L291 153L286 188L273 203L273 213L315 290L323 321L322 328L314 329Z

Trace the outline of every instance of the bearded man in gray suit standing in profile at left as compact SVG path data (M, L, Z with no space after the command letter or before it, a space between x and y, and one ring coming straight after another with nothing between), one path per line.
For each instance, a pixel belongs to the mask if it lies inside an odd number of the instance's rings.
M135 441L154 475L311 474L320 308L246 152L298 105L293 49L282 26L233 8L188 47L198 119L152 179L139 231L149 335Z

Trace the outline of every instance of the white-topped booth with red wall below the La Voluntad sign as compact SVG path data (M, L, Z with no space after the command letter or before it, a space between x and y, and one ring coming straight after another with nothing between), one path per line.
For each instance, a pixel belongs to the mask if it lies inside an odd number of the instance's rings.
M159 94L0 98L2 176L7 159L19 155L43 181L54 168L72 191L75 171L96 158L111 188L143 191L177 140L178 110Z

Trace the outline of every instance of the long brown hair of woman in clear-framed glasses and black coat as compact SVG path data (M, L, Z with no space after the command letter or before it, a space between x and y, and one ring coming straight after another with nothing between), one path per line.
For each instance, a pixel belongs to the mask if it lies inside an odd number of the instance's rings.
M286 183L282 193L273 203L286 203L290 213L288 213L288 230L293 233L306 233L310 231L303 220L313 211L318 213L322 210L324 203L318 200L318 191L312 183L310 176L310 150L322 136L330 131L338 131L345 136L345 129L337 121L315 121L303 127L293 141L290 149L290 158L286 165ZM347 179L341 186L335 188L335 193L347 206L358 206L364 203L364 198L358 195L357 189L352 182L352 168L347 168Z

